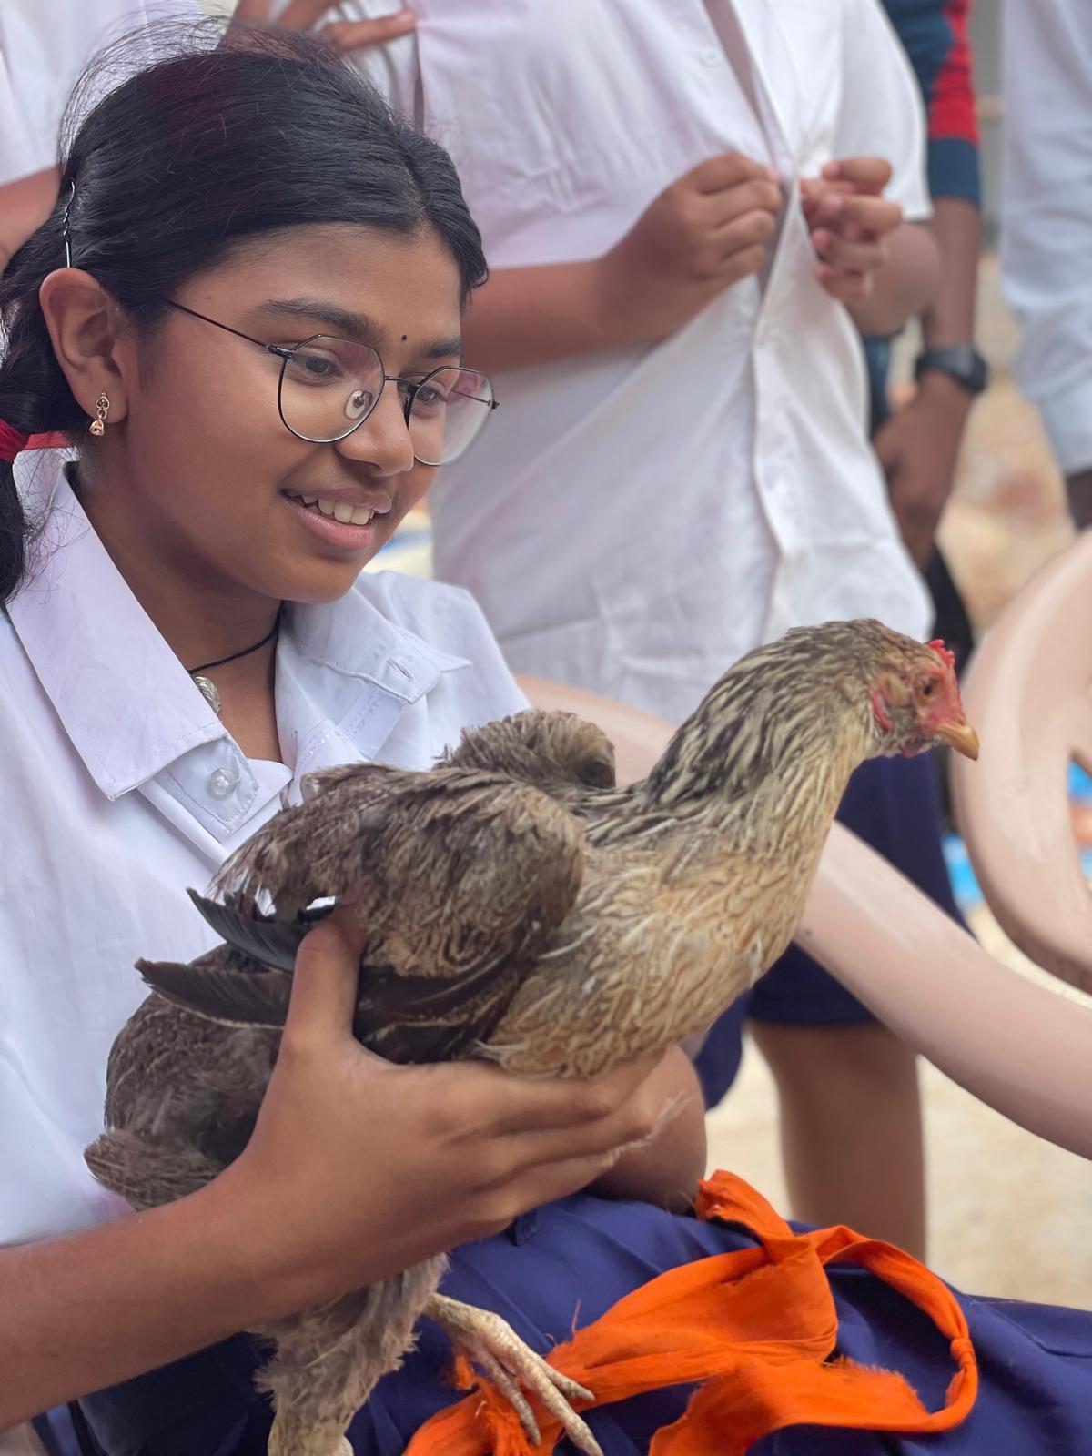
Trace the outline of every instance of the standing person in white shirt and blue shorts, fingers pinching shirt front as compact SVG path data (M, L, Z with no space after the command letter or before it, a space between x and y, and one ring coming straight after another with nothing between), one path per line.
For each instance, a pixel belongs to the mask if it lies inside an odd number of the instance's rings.
M681 721L789 626L927 635L855 329L894 332L936 277L920 96L877 0L415 10L360 66L450 147L482 227L467 338L504 409L430 504L437 575L510 665ZM954 913L932 775L869 767L842 817ZM743 1010L699 1059L711 1101ZM798 1216L920 1249L913 1057L795 951L750 1015Z

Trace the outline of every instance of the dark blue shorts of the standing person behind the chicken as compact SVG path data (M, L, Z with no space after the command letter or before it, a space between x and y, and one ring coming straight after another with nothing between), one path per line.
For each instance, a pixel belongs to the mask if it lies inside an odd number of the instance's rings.
M932 756L863 763L837 817L962 925L941 844L941 788ZM706 1037L696 1061L706 1107L715 1107L735 1080L747 1016L786 1026L856 1026L874 1019L817 961L791 945Z

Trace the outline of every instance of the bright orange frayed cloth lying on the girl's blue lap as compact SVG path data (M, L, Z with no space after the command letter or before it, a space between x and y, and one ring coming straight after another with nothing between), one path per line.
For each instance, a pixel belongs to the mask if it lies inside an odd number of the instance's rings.
M549 1361L596 1392L594 1405L667 1385L702 1382L686 1412L652 1439L649 1456L743 1456L785 1425L946 1431L978 1388L967 1321L942 1281L909 1254L844 1227L796 1235L741 1178L702 1184L697 1214L751 1229L760 1246L668 1270L620 1299ZM828 1262L862 1264L933 1321L957 1370L939 1411L926 1411L900 1374L828 1361L837 1315ZM531 1396L542 1441L531 1446L496 1388L456 1360L472 1393L427 1421L406 1456L549 1456L558 1421Z

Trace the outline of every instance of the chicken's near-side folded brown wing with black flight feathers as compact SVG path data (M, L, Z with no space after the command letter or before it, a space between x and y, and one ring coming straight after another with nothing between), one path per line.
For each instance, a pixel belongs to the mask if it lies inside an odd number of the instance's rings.
M367 932L357 1038L393 1061L470 1054L575 903L578 821L549 794L483 767L367 764L316 776L309 791L217 878L227 904L189 893L221 951L191 965L143 961L141 976L199 1016L278 1029L296 954L331 907L278 919L259 898L287 909L352 887Z

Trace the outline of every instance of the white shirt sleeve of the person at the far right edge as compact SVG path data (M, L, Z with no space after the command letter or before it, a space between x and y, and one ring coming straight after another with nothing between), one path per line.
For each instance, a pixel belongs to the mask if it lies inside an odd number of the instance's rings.
M1092 526L1092 28L1082 0L1002 7L1002 285L1015 374Z

